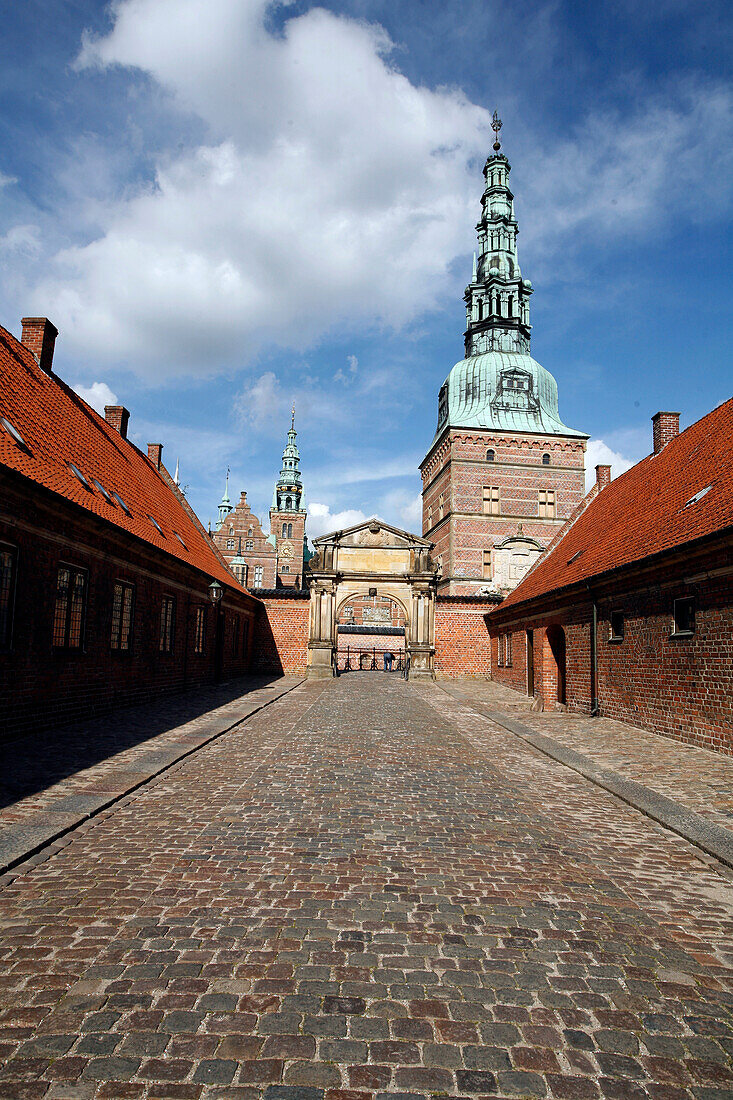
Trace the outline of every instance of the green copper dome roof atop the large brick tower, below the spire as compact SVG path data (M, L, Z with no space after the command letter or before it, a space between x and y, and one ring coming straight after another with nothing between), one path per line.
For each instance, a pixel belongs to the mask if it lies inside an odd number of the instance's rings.
M438 397L438 433L451 428L489 428L587 439L562 424L557 383L549 371L515 351L490 351L456 363Z

